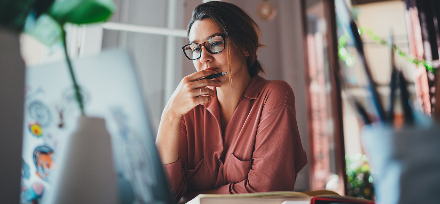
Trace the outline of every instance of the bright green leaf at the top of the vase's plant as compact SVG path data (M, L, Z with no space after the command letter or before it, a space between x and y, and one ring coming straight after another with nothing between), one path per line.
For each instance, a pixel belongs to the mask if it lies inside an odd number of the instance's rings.
M48 14L60 25L103 22L115 10L112 0L55 0Z

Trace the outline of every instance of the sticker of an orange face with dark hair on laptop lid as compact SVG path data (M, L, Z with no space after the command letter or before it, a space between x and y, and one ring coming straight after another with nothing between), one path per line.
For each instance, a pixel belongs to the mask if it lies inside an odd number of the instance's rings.
M33 162L37 168L37 176L49 181L51 171L55 168L55 152L48 146L39 146L33 151Z

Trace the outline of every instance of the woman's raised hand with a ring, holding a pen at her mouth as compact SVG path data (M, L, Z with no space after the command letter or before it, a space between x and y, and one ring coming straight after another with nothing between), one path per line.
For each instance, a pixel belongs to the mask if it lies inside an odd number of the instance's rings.
M220 81L203 79L202 77L216 74L218 72L212 70L201 70L192 73L180 81L176 91L171 95L164 113L172 114L174 117L183 117L191 109L200 104L210 102L211 97L215 97L215 93L210 88L206 87L220 87ZM198 81L195 81L198 80Z

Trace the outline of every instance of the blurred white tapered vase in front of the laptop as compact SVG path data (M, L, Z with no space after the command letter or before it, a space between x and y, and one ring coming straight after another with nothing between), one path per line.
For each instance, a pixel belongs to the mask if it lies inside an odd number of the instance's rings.
M53 204L116 204L110 134L102 118L80 117L67 142Z

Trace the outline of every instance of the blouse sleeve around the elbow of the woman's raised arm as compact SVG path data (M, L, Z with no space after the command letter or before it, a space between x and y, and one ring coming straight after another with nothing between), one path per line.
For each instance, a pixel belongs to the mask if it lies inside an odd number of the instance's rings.
M184 193L187 192L187 182L185 180L185 160L184 158L180 158L181 153L186 152L187 145L187 132L185 127L185 121L182 119L182 123L180 125L180 144L179 144L179 159L171 164L163 165L163 169L165 171L165 175L169 180L169 185L171 188L171 192L174 195L174 201L177 203Z

